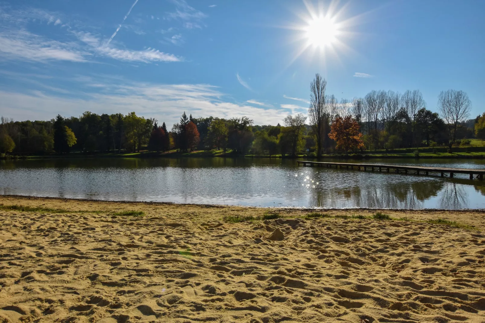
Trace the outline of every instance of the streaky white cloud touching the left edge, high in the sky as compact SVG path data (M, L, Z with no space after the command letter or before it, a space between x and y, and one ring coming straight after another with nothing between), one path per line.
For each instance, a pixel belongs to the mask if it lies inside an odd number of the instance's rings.
M84 55L72 43L47 40L24 30L0 32L0 56L4 59L85 62Z

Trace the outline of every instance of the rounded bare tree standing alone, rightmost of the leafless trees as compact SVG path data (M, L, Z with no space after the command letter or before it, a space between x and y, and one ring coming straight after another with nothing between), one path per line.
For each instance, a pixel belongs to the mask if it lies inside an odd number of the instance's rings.
M460 122L465 121L470 115L471 101L466 92L441 91L438 96L438 109L448 126L448 134L450 135L448 147L451 150L456 140L456 129L458 129Z

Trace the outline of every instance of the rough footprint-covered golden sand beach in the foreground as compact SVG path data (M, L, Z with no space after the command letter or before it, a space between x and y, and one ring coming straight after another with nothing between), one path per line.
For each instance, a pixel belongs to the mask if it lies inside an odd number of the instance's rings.
M0 322L485 322L483 212L224 223L265 210L0 196ZM99 213L79 212L101 211ZM144 210L144 216L113 216ZM78 211L78 212L76 212ZM331 211L371 214L370 210Z

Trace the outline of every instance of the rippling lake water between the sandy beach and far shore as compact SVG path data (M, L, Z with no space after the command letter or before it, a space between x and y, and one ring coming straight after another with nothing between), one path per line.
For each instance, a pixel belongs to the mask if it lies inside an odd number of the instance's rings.
M365 162L485 168L484 160ZM485 208L485 183L468 175L310 168L281 159L0 161L0 194L264 207Z

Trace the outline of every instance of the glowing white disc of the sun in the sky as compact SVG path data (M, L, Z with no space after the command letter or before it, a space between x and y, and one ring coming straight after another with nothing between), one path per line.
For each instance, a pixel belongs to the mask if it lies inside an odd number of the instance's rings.
M337 25L333 19L327 16L312 18L304 30L309 46L323 48L331 46L337 40Z

